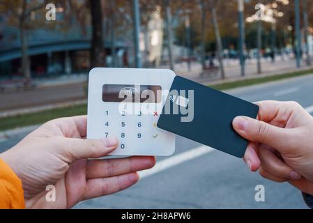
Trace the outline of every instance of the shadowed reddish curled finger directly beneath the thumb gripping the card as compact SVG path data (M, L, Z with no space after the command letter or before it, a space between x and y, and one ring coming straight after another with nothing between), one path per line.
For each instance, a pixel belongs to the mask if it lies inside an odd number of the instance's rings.
M301 175L293 171L285 162L280 160L273 151L266 148L259 147L259 157L261 160L261 167L269 174L277 178L286 178L298 180Z

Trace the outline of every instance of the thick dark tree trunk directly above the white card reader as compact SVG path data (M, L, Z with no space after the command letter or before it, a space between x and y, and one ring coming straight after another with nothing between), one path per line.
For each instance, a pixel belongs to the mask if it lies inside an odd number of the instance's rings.
M100 0L90 0L92 40L91 68L105 66L105 50L103 49L102 7Z

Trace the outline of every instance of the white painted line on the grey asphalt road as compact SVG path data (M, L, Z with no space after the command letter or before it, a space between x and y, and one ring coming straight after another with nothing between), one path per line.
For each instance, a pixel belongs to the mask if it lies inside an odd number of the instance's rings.
M309 107L305 107L305 110L309 113L313 113L313 105L311 105ZM206 155L208 153L212 153L213 151L215 151L215 149L208 147L208 146L199 146L196 148L191 148L190 150L185 151L183 153L179 153L179 154L174 155L172 157L158 161L157 164L155 164L155 167L153 167L152 169L146 169L144 171L140 171L139 176L140 176L140 178L146 178L148 176L158 174L161 171L165 171L166 169L169 169L171 167L175 167L178 164L181 164L183 162L193 160L197 157L200 157L201 155Z

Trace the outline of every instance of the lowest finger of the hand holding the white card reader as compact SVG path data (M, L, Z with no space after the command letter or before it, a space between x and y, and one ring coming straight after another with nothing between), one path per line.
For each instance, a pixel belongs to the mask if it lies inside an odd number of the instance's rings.
M83 200L113 194L134 185L139 180L137 173L124 174L109 178L87 180Z

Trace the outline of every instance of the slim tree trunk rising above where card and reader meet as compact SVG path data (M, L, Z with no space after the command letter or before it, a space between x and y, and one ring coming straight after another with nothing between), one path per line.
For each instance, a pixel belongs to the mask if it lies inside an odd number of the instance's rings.
M171 7L169 6L169 0L165 0L166 17L167 17L167 49L169 50L169 66L171 70L174 70L174 55L173 55L173 29L171 27Z

